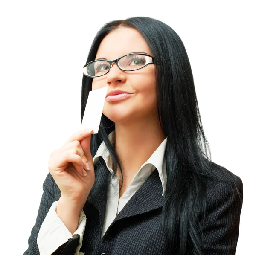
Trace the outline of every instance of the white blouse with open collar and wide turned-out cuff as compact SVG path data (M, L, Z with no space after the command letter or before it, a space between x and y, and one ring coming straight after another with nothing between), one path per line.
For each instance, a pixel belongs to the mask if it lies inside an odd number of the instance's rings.
M112 141L113 136L115 135L115 130L113 130L108 138ZM103 223L103 229L101 238L107 231L108 227L111 225L116 215L122 210L125 204L129 201L129 199L134 195L134 193L140 188L141 185L145 182L145 180L150 176L150 174L157 168L159 173L160 180L162 182L163 194L165 194L166 189L166 163L165 163L165 149L166 149L167 137L163 140L163 142L158 146L158 148L154 151L151 157L140 167L137 174L135 174L133 180L126 188L125 192L122 194L122 197L119 198L119 180L118 177L115 176L108 187L108 198L107 198L107 206L105 219ZM96 160L102 157L106 162L106 166L110 173L113 173L112 170L112 158L111 155L103 141L99 146L96 155L93 157L93 165L95 165ZM109 177L110 178L110 177ZM59 246L66 243L68 239L75 238L76 235L79 235L79 245L76 248L76 252L74 255L84 255L84 252L80 252L83 234L86 224L86 215L82 210L77 230L73 233L73 235L69 232L67 227L58 217L56 213L58 201L52 203L52 206L47 213L41 228L38 233L37 244L40 255L50 255L58 249Z

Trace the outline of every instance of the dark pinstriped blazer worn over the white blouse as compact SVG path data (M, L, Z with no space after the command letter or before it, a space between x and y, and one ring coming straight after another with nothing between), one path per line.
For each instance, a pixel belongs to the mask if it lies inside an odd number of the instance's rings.
M233 180L234 185L224 182L214 183L207 189L209 214L202 222L205 252L207 255L233 255L239 235L239 220L243 202L241 179L226 168L215 163L212 171L222 180ZM100 239L108 189L107 168L95 169L95 183L84 205L87 222L80 249L85 255L167 255L170 250L161 228L164 197L162 183L157 169L148 177L139 190L117 215L107 232ZM233 190L237 187L237 192ZM50 174L43 184L44 193L38 210L35 226L32 228L24 255L39 255L37 236L50 206L58 200L58 186ZM70 238L60 246L54 255L74 255L79 235ZM194 247L187 253L196 255Z

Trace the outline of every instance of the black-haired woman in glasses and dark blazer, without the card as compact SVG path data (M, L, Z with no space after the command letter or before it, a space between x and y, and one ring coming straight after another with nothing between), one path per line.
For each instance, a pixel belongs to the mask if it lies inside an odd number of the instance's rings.
M81 116L105 86L122 96L107 95L98 134L81 130L51 154L24 254L235 254L242 181L210 159L180 37L149 17L105 24Z

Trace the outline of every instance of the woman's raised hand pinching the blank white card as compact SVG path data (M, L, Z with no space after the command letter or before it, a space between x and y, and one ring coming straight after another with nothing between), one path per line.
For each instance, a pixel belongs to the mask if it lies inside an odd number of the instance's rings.
M80 130L59 149L53 151L48 169L61 191L61 197L85 203L94 184L93 158L90 153L92 131ZM87 170L88 163L90 170ZM86 170L86 171L85 171ZM84 173L87 174L84 176Z

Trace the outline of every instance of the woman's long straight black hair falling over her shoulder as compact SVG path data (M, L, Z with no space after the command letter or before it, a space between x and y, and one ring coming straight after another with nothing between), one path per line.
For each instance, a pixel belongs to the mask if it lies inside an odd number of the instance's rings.
M165 23L150 17L131 17L106 23L96 34L87 62L95 60L102 39L119 28L137 29L151 49L155 67L158 118L167 137L165 151L167 184L163 206L163 227L172 251L185 254L189 245L203 254L200 217L206 213L207 178L218 179L211 171L211 153L204 135L189 58L177 33ZM81 122L92 89L93 78L83 75ZM108 134L115 125L102 114L99 133L91 136L91 154L105 142L113 159L113 171L122 166ZM113 126L112 126L113 125ZM112 126L112 127L111 127ZM200 217L199 217L200 216Z

